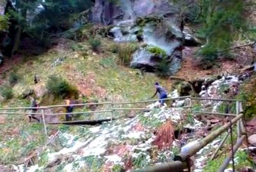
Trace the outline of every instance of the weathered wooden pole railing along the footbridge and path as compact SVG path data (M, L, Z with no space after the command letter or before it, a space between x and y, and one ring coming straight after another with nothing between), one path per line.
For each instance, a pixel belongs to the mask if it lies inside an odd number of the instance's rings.
M225 125L221 126L219 129L214 130L209 134L208 136L204 137L198 143L196 143L193 146L190 146L189 149L187 149L184 152L180 152L179 155L175 156L172 162L167 162L164 164L160 164L157 166L152 166L146 169L138 169L134 170L132 172L180 172L183 170L191 171L191 157L196 154L196 152L200 151L204 146L208 145L216 139L220 134L223 134L224 132L227 132L226 136L223 137L223 140L221 141L218 148L215 150L214 154L212 155L211 159L215 159L215 157L218 155L219 150L221 149L221 146L224 145L225 141L227 140L227 137L231 137L231 145L230 145L230 152L228 153L226 159L224 160L223 164L221 164L220 169L218 169L218 172L223 172L230 160L232 160L232 168L233 171L235 170L235 164L234 164L234 154L238 150L239 146L243 143L244 139L247 140L247 132L245 128L245 121L244 121L244 115L243 115L243 107L242 107L242 101L241 100L232 100L232 99L218 99L218 98L197 98L197 97L177 97L177 98L165 98L164 100L189 100L188 106L183 106L182 108L188 108L193 114L214 114L214 115L220 115L220 116L229 116L232 118L232 120L229 120ZM209 102L233 102L236 103L236 113L212 113L212 112L206 112L206 111L192 111L192 100L196 101L209 101ZM94 114L94 113L111 113L111 116L109 116L106 119L100 119L100 120L79 120L79 121L60 121L60 122L53 122L53 123L46 123L45 122L45 116L59 116L66 113L49 113L45 114L46 109L54 109L58 107L67 107L66 105L57 105L57 106L42 106L42 107L3 107L0 108L0 114L35 114L42 117L42 123L44 124L44 130L46 136L47 134L47 125L49 124L65 124L65 125L95 125L96 123L102 123L104 121L112 121L115 120L115 112L116 111L150 111L148 108L115 108L116 105L124 106L125 104L145 104L156 102L158 100L145 100L145 101L137 101L137 102L99 102L99 103L88 103L88 104L74 104L72 106L74 107L84 107L84 106L92 106L92 105L108 105L111 108L104 109L102 111L84 111L79 113L70 113L70 114ZM40 113L10 113L6 112L6 110L24 110L24 109L38 109ZM237 141L236 143L233 143L233 137L232 137L232 127L236 125L237 127Z

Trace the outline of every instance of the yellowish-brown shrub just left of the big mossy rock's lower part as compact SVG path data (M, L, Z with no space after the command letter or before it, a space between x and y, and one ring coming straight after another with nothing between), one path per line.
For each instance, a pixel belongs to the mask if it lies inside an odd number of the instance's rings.
M122 43L118 48L118 63L119 65L127 66L129 65L132 54L138 49L136 43Z

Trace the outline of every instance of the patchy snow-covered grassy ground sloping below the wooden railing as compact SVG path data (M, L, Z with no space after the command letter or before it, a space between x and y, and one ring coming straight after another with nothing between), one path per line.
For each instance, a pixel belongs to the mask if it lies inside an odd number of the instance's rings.
M227 76L218 79L207 88L202 90L201 97L221 98L221 87L227 86L230 91L237 91L239 77ZM177 90L173 91L170 97L177 97ZM206 102L209 103L209 102ZM166 120L172 120L176 127L184 127L193 129L202 128L202 122L192 119L191 123L184 123L188 118L188 111L179 106L187 106L188 100L176 101L174 108L167 106L159 108L159 102L150 104L148 108L150 112L138 114L132 119L120 119L96 127L77 126L80 132L69 132L60 135L60 140L65 140L65 147L58 151L52 149L45 150L44 163L35 164L28 168L29 172L45 171L53 168L54 171L93 171L93 168L102 169L102 171L115 171L123 167L125 169L144 168L153 164L160 164L171 160L173 155L180 151L180 141L175 140L172 148L164 151L158 151L154 154L153 141L155 139L154 132ZM205 102L202 106L206 106ZM211 104L213 110L216 111L220 106L220 102ZM81 133L83 131L83 133ZM188 139L190 143L181 148L181 152L186 150L189 145L196 144L201 136L194 136ZM211 144L205 146L195 156L195 171L203 171L205 162L209 159L211 153L220 143L220 139L216 139ZM178 152L179 153L179 152ZM207 154L208 153L208 154ZM41 158L41 157L40 157ZM49 166L56 161L59 163ZM132 164L132 166L131 166ZM24 165L15 166L16 171L25 171Z

